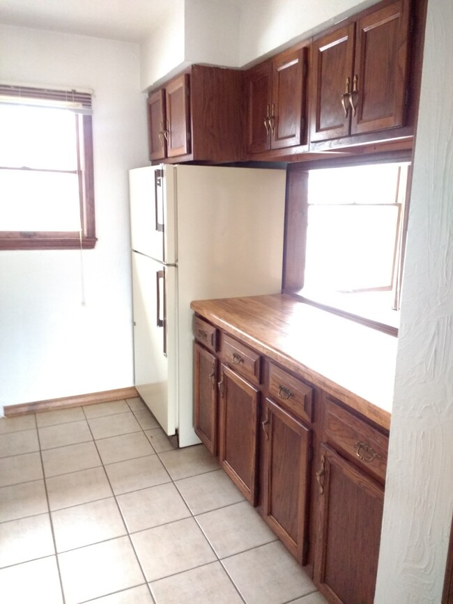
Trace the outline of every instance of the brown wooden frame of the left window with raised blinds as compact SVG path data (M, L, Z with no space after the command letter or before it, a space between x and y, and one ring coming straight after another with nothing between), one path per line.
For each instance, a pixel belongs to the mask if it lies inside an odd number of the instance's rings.
M95 232L93 119L91 93L0 84L0 96L10 103L36 102L40 107L67 107L77 120L77 176L81 231L0 231L0 250L93 249ZM8 101L8 98L11 98Z

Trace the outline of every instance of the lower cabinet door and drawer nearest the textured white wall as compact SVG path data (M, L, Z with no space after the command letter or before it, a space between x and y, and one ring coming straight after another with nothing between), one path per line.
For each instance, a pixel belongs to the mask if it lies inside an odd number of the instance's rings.
M372 604L387 435L325 397L323 440L316 472L319 518L314 581L333 603Z

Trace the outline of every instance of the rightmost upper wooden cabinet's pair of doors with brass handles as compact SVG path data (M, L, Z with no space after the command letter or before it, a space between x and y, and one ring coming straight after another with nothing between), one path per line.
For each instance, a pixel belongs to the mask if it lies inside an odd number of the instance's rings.
M406 125L410 0L378 6L313 42L311 141Z

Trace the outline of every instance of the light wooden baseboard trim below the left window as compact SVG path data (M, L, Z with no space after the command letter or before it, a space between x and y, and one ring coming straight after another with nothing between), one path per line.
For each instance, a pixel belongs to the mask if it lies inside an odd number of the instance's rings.
M70 407L81 407L82 405L94 405L95 403L112 403L112 401L120 401L122 398L135 398L136 396L139 396L139 393L134 386L130 386L116 390L105 390L104 392L65 396L64 398L49 398L48 401L6 405L3 408L3 412L5 417L14 417L15 415L25 415L26 413L36 413L38 411L68 409Z

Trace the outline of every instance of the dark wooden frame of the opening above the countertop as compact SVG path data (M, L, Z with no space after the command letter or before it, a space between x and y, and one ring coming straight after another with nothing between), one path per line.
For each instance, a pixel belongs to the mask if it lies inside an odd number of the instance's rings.
M298 164L291 164L287 170L286 178L286 207L284 222L284 250L282 271L282 293L291 295L298 300L310 304L325 311L335 313L344 318L362 323L376 330L398 335L397 327L381 323L360 314L346 311L329 304L311 300L305 297L301 291L305 280L305 255L307 248L307 226L308 226L308 173L311 169L340 168L362 166L365 164L383 164L397 162L413 162L412 150L391 151L363 155L360 157L342 157L326 160L313 160ZM401 288L401 270L404 265L404 250L406 245L406 231L408 224L408 211L410 201L410 185L412 182L412 169L408 168L408 183L406 189L406 201L404 214L401 216L401 254L397 261L397 288Z

